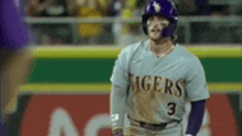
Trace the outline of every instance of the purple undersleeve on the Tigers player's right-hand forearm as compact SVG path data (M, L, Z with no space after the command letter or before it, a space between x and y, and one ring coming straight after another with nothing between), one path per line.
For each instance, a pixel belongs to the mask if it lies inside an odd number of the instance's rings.
M200 129L206 110L206 100L191 102L191 111L188 120L188 126L186 134L196 136Z

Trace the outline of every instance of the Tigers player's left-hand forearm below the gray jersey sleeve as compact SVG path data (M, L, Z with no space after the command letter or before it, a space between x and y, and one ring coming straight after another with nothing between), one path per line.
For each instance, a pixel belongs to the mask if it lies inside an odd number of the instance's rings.
M112 122L112 134L121 136L124 124L127 88L112 84L110 94L110 115Z

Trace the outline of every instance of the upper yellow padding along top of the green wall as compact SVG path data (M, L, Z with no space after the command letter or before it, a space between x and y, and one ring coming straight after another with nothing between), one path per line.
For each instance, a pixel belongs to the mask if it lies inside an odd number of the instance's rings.
M36 47L33 56L36 58L116 58L122 48L117 47ZM242 57L241 47L187 47L198 57Z

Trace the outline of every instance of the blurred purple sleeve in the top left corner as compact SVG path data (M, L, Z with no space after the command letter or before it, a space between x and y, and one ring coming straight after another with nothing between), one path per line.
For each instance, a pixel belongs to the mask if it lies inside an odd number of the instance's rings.
M29 26L24 13L14 7L13 0L1 0L1 48L15 50L28 46L33 37L28 36Z

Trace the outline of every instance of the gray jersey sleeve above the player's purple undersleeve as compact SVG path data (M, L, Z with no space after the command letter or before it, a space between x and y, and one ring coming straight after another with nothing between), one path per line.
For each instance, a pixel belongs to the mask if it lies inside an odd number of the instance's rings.
M199 101L209 99L204 67L197 57L193 57L188 63L186 75L187 100Z

